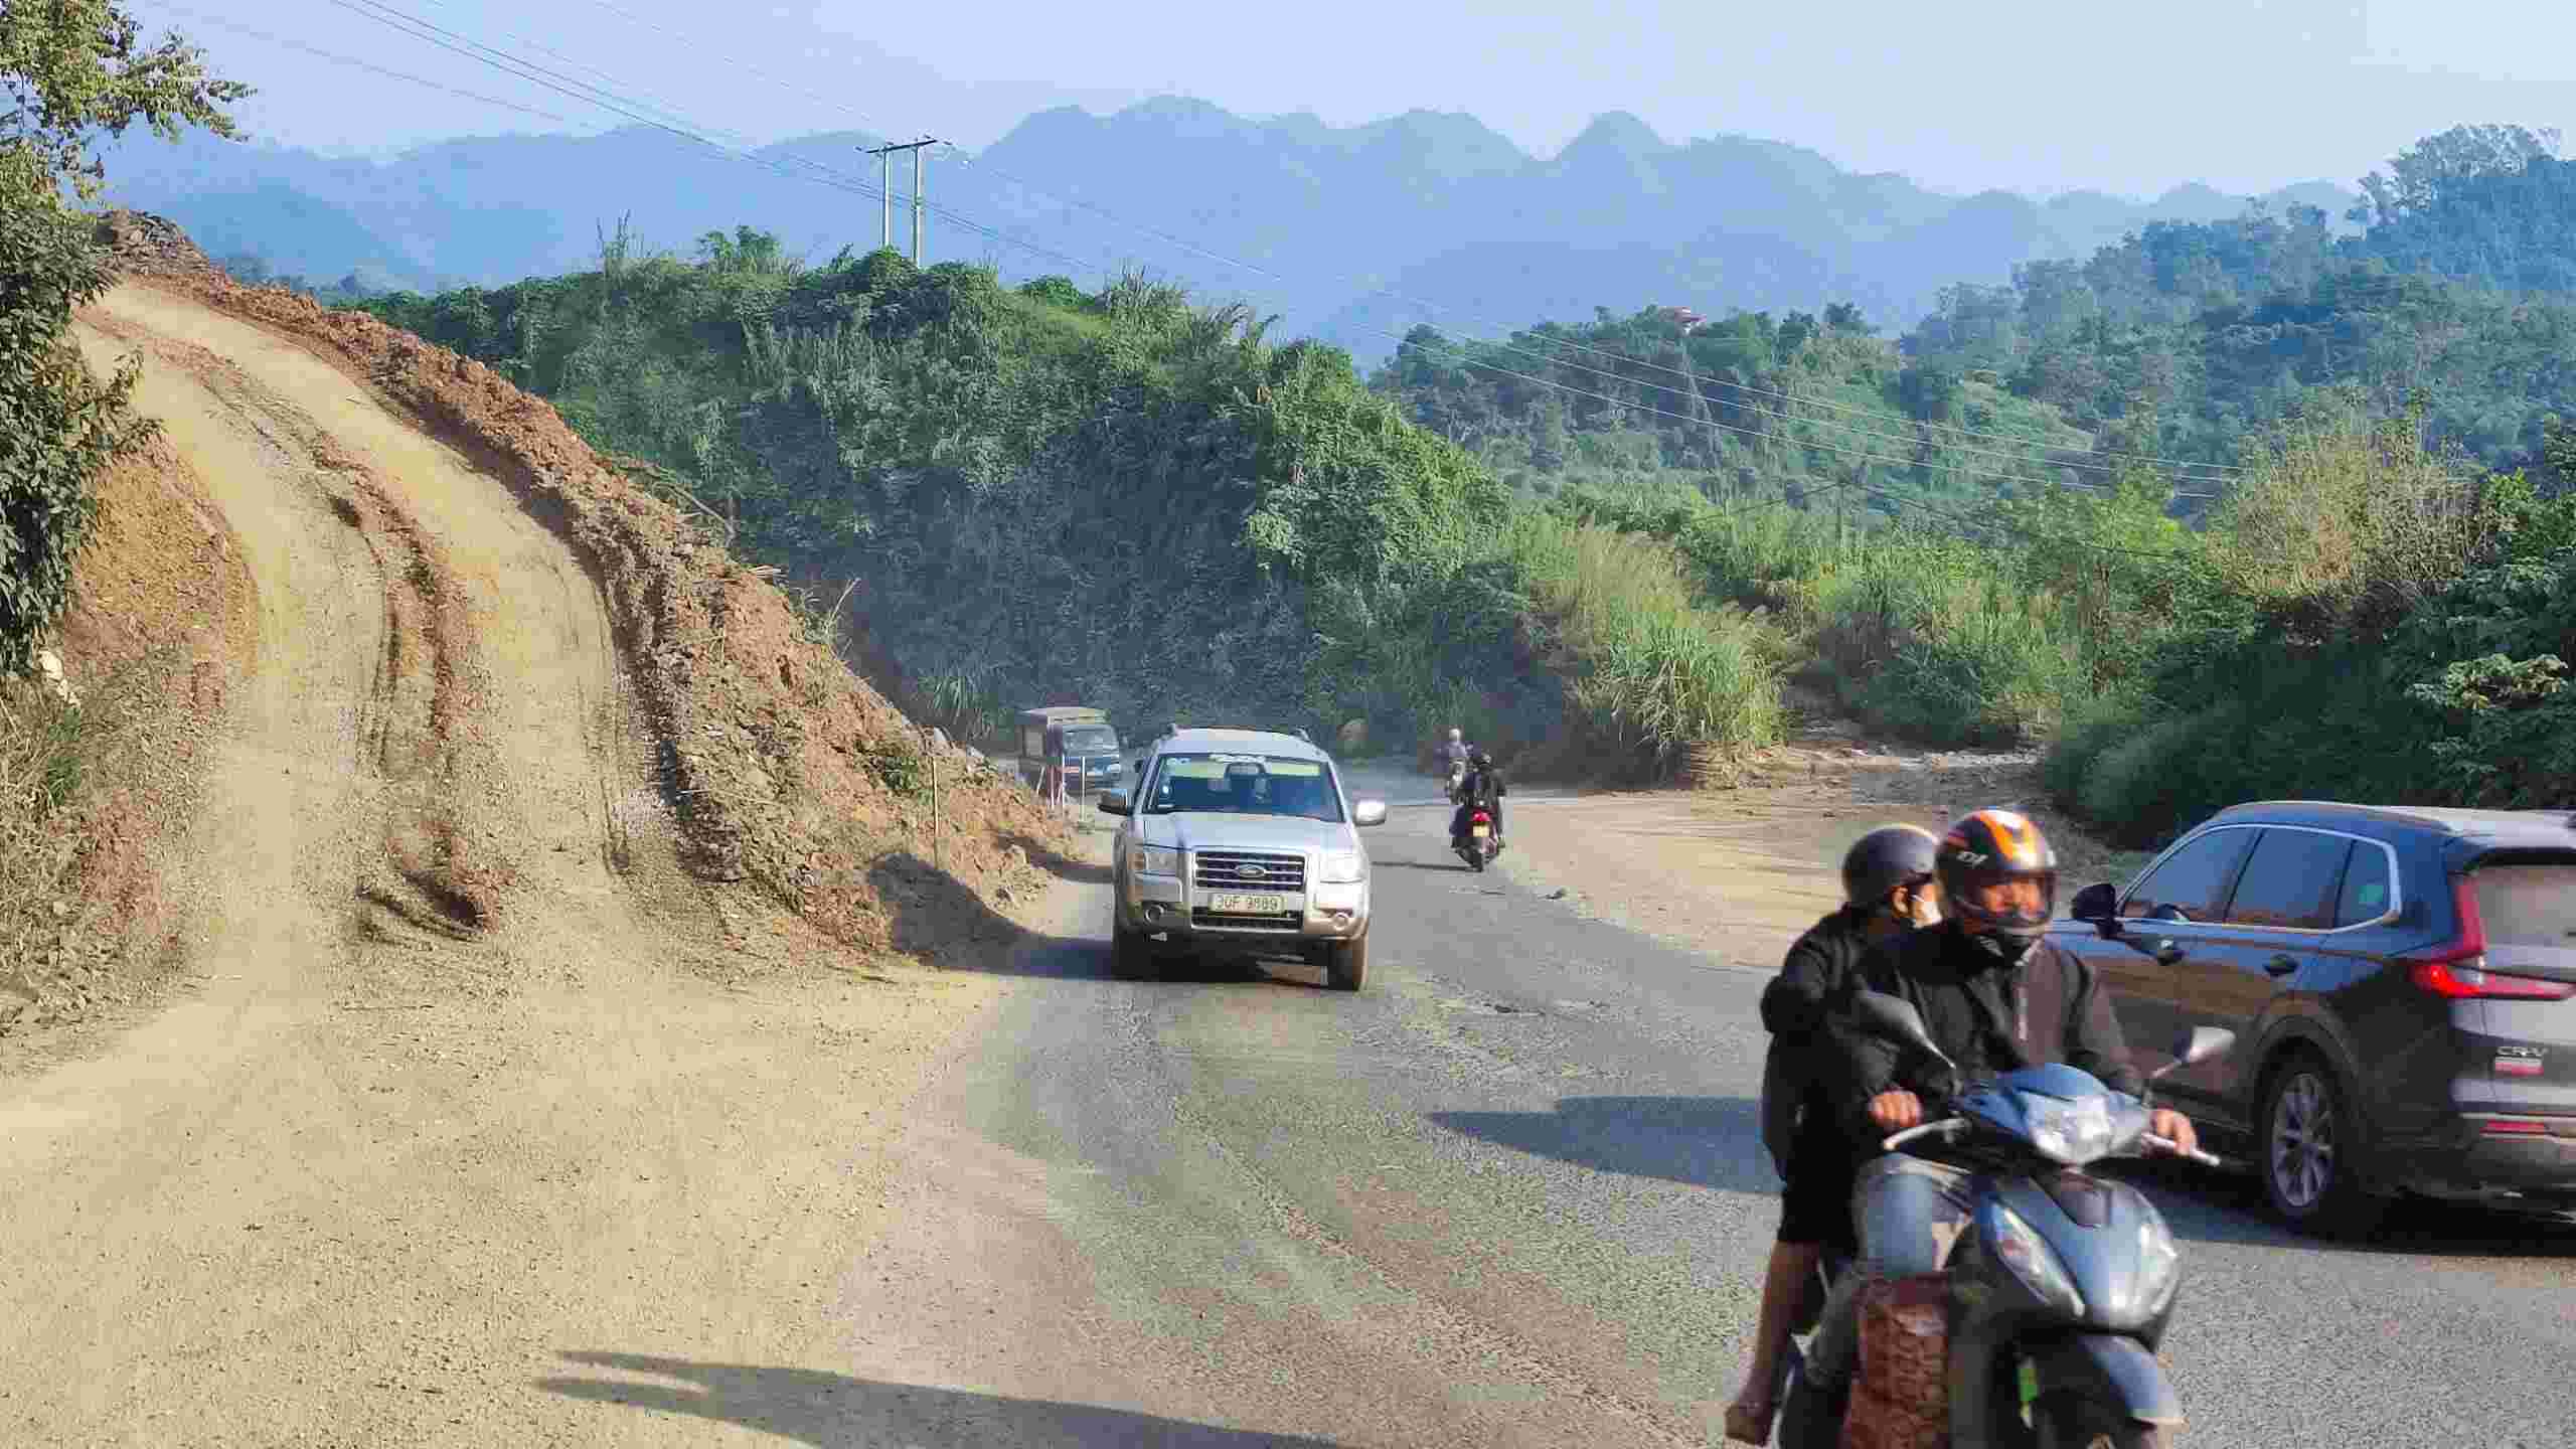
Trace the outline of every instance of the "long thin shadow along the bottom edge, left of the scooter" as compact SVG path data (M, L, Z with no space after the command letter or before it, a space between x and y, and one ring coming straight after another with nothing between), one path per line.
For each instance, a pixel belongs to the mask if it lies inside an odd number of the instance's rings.
M1329 1439L1218 1428L1123 1408L853 1379L822 1369L698 1364L647 1354L564 1354L585 1369L665 1382L546 1377L541 1390L623 1403L708 1423L757 1428L799 1444L1157 1444L1167 1449L1332 1449Z

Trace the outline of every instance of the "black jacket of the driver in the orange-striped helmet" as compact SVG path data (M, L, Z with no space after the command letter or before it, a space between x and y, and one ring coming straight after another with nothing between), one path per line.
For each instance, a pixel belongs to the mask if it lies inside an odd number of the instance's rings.
M1852 990L1901 995L1924 1013L1932 1042L1958 1062L1963 1080L1945 1080L1935 1062L1906 1062L1847 1021L1834 1024L1839 1070L1826 1088L1842 1127L1875 1134L1870 1098L1909 1088L1947 1096L1973 1080L2040 1062L2066 1062L2102 1078L2112 1091L2143 1085L2128 1060L2110 993L2071 951L2040 941L2007 967L1978 951L1955 926L1909 931L1860 959ZM1839 1013L1837 1013L1839 1016Z

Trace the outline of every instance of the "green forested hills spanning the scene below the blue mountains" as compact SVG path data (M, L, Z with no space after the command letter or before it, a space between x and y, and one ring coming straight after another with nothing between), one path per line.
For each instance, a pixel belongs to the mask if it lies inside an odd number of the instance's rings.
M2316 209L2148 224L1880 338L1819 315L1414 330L1360 376L1144 278L696 258L366 307L551 397L866 621L969 735L1437 724L1615 776L1806 683L2048 745L2156 838L2246 794L2561 799L2576 168L2432 137ZM2558 248L2558 250L2553 250Z

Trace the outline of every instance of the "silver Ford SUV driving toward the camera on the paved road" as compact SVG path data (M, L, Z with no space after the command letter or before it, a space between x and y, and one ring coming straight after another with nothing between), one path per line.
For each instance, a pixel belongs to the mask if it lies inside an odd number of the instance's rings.
M1270 730L1175 730L1100 797L1118 825L1110 969L1164 951L1293 954L1334 990L1368 977L1368 848L1383 799L1352 802L1332 755Z

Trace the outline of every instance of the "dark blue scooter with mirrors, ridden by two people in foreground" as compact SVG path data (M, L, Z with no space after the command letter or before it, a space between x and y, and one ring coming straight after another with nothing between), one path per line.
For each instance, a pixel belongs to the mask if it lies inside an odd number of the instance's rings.
M1909 1000L1860 993L1852 1016L1880 1039L1953 1065ZM2143 1096L2063 1062L2022 1067L1958 1093L1953 1116L1880 1142L1888 1152L1940 1142L1942 1160L1976 1173L1976 1209L1942 1269L1953 1446L2172 1444L2182 1400L2156 1348L2174 1315L2182 1256L2146 1194L2084 1168L2148 1150L2221 1165L2148 1132L2148 1116L2159 1078L2233 1044L2233 1031L2192 1029ZM1793 1354L1788 1374L1803 1372Z

